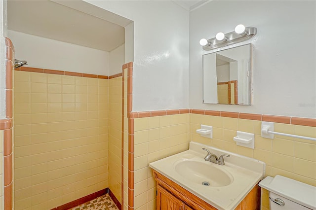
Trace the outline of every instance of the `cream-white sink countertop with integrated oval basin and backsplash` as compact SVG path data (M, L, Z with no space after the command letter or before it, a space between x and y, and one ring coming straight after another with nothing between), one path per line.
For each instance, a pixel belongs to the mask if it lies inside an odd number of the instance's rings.
M221 166L205 161L206 152L225 158ZM263 178L265 163L205 144L190 142L190 149L150 163L149 166L219 210L235 210ZM208 182L204 185L202 182Z

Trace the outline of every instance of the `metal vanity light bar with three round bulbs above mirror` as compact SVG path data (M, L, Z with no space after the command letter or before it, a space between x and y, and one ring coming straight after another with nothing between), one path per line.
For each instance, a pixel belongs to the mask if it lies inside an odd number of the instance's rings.
M257 28L245 27L239 24L235 27L235 31L224 34L219 32L214 38L202 38L199 43L203 46L203 50L213 50L219 47L225 47L230 44L236 44L241 41L248 40L257 34Z

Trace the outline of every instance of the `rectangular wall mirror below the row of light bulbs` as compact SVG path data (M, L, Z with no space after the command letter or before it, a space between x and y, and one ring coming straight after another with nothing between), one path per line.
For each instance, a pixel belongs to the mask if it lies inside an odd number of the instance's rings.
M203 103L251 105L252 45L203 55Z

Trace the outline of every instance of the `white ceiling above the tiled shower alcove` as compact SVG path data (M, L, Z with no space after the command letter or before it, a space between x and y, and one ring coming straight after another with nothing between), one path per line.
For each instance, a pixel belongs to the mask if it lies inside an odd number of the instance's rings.
M124 27L50 0L8 0L8 29L112 51L125 41Z

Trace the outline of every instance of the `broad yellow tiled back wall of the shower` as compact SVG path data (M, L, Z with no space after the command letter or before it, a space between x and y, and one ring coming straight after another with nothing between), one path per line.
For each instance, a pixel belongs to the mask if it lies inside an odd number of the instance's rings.
M15 209L108 187L108 79L16 70L14 82Z

